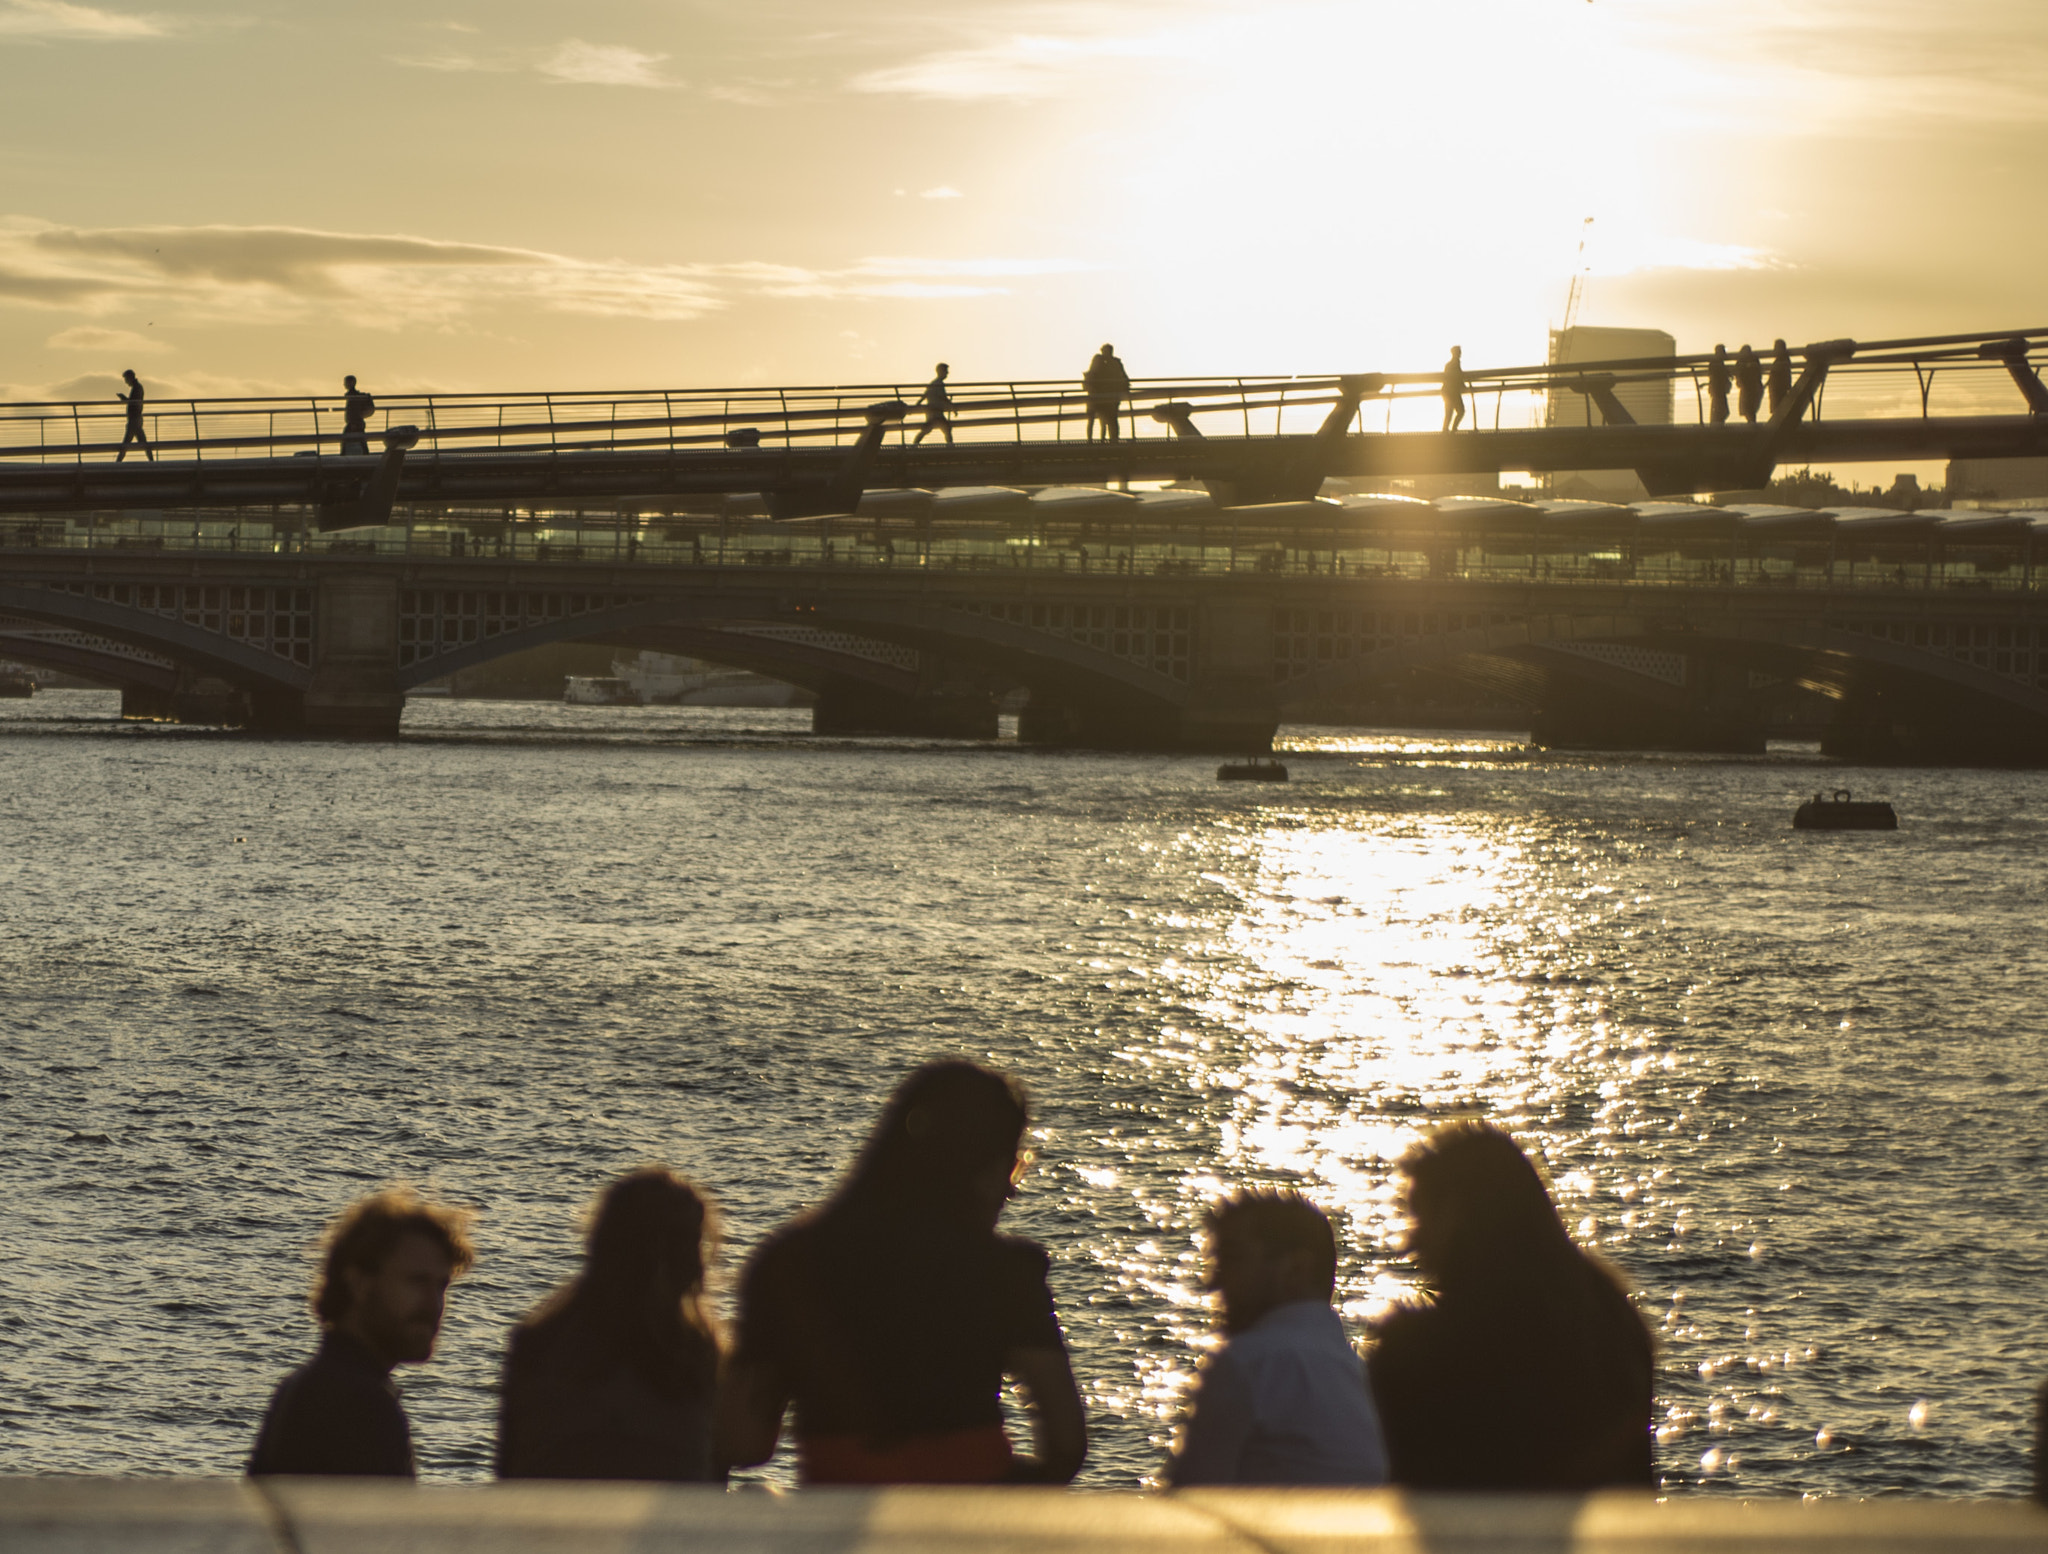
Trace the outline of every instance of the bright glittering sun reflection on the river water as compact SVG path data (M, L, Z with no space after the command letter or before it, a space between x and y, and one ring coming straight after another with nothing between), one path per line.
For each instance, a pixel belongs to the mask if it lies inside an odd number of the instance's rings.
M1432 753L1454 758L1444 741ZM1157 1233L1128 1247L1122 1276L1169 1304L1176 1341L1141 1353L1118 1402L1151 1415L1157 1441L1210 1343L1202 1204L1253 1183L1309 1192L1346 1247L1339 1302L1370 1323L1411 1290L1395 1179L1409 1145L1456 1116L1499 1120L1546 1157L1567 1222L1597 1241L1587 1206L1604 1177L1587 1155L1610 1153L1634 1079L1659 1069L1559 970L1606 887L1499 815L1268 815L1178 846L1227 905L1176 919L1186 938L1149 975L1184 1018L1124 1054L1161 1087L1178 1079L1186 1126L1214 1132L1206 1155L1176 1151L1171 1183L1126 1175Z

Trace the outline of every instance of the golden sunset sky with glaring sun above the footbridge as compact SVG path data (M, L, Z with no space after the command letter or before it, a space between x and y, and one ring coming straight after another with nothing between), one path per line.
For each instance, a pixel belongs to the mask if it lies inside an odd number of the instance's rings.
M0 0L0 395L2048 323L2042 0Z

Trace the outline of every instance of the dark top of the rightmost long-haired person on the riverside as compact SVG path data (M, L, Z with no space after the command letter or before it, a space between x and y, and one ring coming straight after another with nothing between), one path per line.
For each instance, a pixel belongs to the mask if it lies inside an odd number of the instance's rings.
M1591 1257L1403 1306L1380 1325L1368 1374L1397 1484L1651 1484L1651 1335Z

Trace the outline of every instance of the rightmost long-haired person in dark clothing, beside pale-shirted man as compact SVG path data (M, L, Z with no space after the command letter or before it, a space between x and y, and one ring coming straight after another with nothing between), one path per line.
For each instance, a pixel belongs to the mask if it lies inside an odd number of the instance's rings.
M1427 1302L1378 1327L1372 1394L1397 1484L1651 1484L1651 1335L1579 1251L1499 1128L1452 1124L1401 1161Z

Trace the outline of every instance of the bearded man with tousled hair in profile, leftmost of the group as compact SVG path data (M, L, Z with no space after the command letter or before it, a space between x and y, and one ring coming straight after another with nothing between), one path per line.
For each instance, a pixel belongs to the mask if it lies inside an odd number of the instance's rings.
M248 1472L412 1478L391 1368L434 1357L449 1284L473 1261L461 1210L397 1188L352 1204L313 1280L319 1349L270 1394Z

